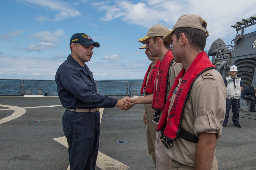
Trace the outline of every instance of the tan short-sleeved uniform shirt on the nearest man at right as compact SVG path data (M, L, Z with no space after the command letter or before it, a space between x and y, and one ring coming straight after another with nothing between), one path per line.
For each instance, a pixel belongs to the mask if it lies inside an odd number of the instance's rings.
M210 73L212 76L204 76ZM204 76L204 77L202 77ZM179 85L182 78L179 80ZM179 86L178 85L178 86ZM170 107L175 95L170 99ZM199 132L216 133L217 139L222 133L222 123L226 111L226 88L224 81L217 70L205 71L199 76L191 89L189 99L186 103L182 129L195 134ZM173 160L194 167L197 143L178 138L173 141L173 146L165 153ZM213 164L217 162L214 156Z

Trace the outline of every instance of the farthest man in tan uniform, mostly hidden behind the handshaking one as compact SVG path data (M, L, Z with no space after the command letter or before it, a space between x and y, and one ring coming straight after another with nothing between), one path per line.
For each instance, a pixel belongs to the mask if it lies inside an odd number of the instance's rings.
M144 93L144 97L153 93L154 82L156 78L156 70L160 64L158 57L152 57L146 45L141 46L139 49L146 49L145 54L148 59L152 61L148 71L145 74L143 85L141 87L141 94ZM153 72L152 72L153 70ZM154 119L155 110L152 109L152 104L144 104L143 121L146 125L147 147L148 152L152 156L153 162L156 167L156 154L155 154L155 141L156 141L156 127L157 125L152 121Z

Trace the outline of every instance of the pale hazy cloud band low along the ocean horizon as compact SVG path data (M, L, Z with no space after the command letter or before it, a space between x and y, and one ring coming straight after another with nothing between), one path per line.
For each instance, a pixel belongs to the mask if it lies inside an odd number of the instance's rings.
M56 58L0 55L0 77L54 80L60 62ZM63 60L64 61L64 60ZM87 62L95 80L143 79L150 61L144 63Z

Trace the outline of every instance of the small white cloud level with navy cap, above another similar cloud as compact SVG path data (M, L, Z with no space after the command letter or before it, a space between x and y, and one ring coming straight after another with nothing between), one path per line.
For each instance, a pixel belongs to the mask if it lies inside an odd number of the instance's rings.
M52 33L50 31L41 31L29 35L30 38L34 38L41 42L59 42L60 38L64 35L64 30L56 30Z

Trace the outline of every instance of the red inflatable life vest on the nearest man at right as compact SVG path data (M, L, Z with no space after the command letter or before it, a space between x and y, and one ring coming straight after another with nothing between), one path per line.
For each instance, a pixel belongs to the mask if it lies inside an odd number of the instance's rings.
M164 137L166 137L169 140L177 139L181 131L181 123L182 123L185 104L189 98L189 95L195 80L206 70L214 69L214 68L216 68L216 66L214 66L210 62L207 54L205 52L201 52L197 55L197 57L191 63L187 71L183 68L179 72L178 76L176 77L173 83L172 89L170 90L162 117L159 120L159 124L156 129L157 131L160 131L164 128L164 125L166 124ZM180 83L180 87L175 96L172 108L168 113L169 106L170 106L169 99L172 97L174 93L174 89L179 84L179 78L182 78L182 77L183 79L182 79L182 82Z

